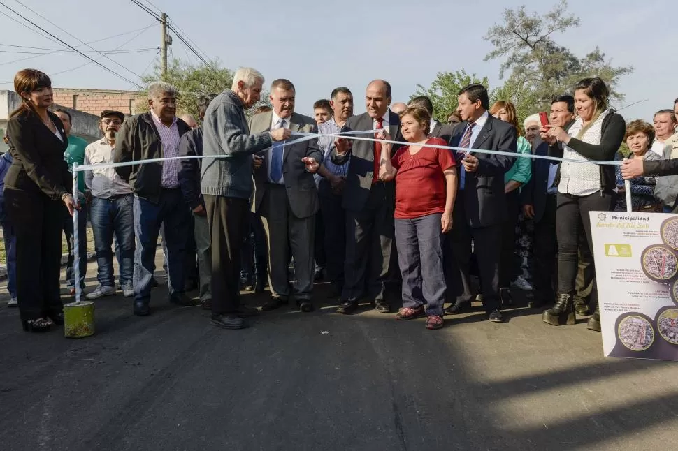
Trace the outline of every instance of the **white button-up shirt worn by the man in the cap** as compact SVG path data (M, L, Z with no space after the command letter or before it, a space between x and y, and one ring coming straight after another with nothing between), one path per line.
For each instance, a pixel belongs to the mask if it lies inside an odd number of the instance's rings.
M106 138L85 147L85 164L101 163L113 163L113 146ZM95 168L85 171L85 185L95 198L108 199L132 193L132 188L117 175L115 168Z

